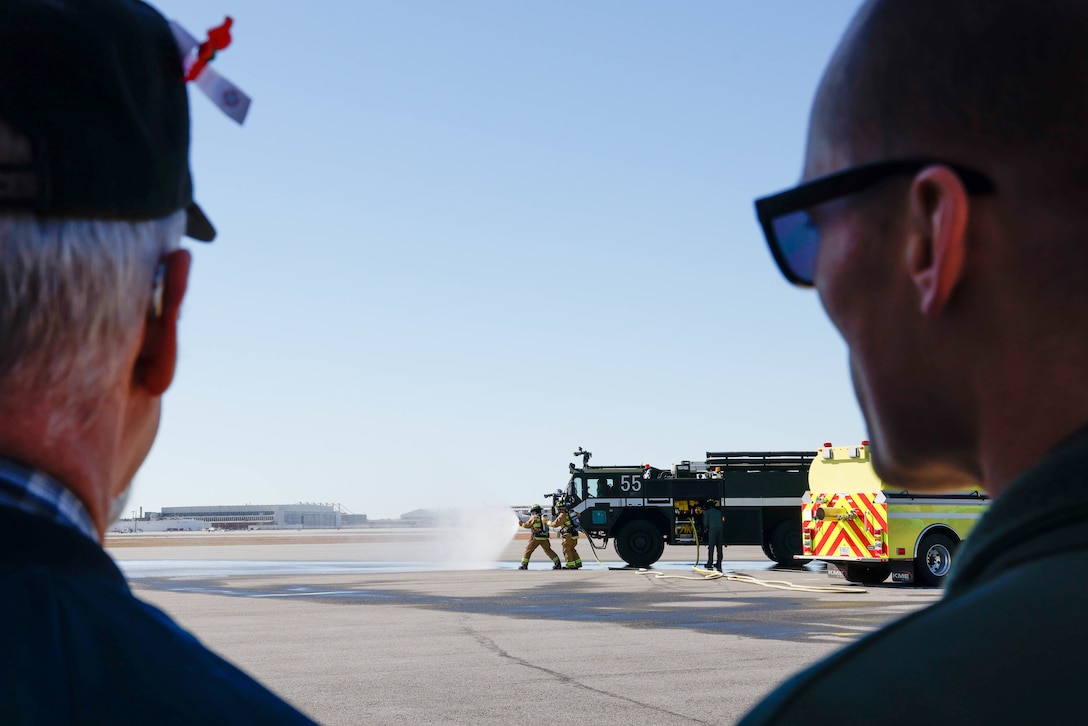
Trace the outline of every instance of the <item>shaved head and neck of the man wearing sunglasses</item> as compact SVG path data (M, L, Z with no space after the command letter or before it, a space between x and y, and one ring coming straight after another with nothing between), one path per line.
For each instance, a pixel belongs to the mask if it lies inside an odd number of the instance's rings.
M886 480L994 493L1088 424L1086 87L1084 0L869 0L828 65L806 177L944 162L814 213Z

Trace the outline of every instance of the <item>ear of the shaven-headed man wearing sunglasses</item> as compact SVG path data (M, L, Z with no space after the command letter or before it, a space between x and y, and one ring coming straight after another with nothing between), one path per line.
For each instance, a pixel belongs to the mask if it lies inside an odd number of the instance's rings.
M967 257L967 192L945 167L923 170L911 185L910 272L922 313L941 313L963 276Z

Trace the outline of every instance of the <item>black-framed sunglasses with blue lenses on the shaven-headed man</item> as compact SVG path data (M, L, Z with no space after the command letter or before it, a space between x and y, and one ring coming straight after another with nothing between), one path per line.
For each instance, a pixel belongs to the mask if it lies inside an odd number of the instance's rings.
M895 174L914 173L935 164L951 169L968 194L991 194L994 190L993 182L981 172L939 159L922 158L852 167L756 199L755 212L778 269L793 284L811 287L819 253L819 230L808 214L809 209L862 192Z

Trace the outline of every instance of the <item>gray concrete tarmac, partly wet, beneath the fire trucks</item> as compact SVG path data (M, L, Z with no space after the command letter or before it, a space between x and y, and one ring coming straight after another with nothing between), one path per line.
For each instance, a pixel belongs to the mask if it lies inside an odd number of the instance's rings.
M732 723L792 673L939 598L771 569L758 547L727 547L726 569L757 580L738 581L693 573L693 547L666 547L653 571L607 569L583 538L582 569L552 570L537 551L519 571L524 541L511 540L491 568L429 570L423 553L455 541L246 534L107 546L137 596L324 724Z

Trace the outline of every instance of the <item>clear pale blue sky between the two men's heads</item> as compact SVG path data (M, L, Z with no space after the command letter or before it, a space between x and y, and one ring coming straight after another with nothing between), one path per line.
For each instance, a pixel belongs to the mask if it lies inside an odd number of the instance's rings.
M800 173L850 0L162 0L254 97L190 98L195 263L132 507L516 504L864 426L752 200Z

